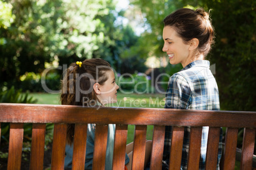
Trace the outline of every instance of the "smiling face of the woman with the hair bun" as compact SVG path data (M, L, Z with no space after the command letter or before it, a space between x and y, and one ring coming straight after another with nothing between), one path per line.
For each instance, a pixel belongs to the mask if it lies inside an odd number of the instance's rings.
M173 27L164 27L162 38L164 39L162 51L167 53L171 64L181 63L185 67L191 62L188 60L190 56L190 45L185 44L181 37L178 37Z

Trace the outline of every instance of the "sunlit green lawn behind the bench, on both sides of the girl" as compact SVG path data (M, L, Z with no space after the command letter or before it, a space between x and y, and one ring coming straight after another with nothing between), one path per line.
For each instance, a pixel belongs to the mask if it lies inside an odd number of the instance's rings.
M38 99L38 104L60 105L59 94L48 93L30 93L32 96ZM131 94L126 95L123 93L117 94L117 103L111 103L109 107L147 107L147 108L164 108L164 95L162 94ZM131 143L134 140L134 125L128 126L127 143ZM153 126L147 126L146 139L152 140Z

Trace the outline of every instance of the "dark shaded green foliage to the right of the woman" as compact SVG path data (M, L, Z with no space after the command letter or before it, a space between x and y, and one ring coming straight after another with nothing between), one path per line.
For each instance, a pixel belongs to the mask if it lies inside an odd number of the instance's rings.
M224 110L256 110L255 1L203 1L213 9L217 36L211 51ZM225 6L225 10L223 10Z

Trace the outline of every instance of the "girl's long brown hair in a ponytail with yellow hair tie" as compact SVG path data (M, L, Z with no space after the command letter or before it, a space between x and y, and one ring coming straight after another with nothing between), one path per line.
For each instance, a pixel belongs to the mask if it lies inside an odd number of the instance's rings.
M71 63L61 81L61 104L90 106L100 102L93 86L96 82L103 85L108 80L107 72L110 70L112 70L110 63L101 58L84 60L81 65ZM68 124L69 145L73 143L74 133L75 124Z

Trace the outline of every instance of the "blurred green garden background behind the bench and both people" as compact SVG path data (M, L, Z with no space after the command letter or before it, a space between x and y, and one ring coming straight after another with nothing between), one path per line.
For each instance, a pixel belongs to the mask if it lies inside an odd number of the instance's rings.
M1 0L0 102L60 104L58 94L48 94L42 88L41 77L45 77L49 89L58 90L63 73L58 66L103 58L118 74L131 74L136 80L134 84L121 84L124 91L131 91L139 82L150 82L149 88L137 86L137 94L118 93L121 106L134 107L125 102L145 100L146 107L163 108L155 104L164 100L164 94L155 90L150 72L172 75L182 67L168 64L162 52L162 20L178 8L202 7L211 9L216 32L207 59L214 65L221 110L255 111L255 5L253 0ZM48 68L55 69L44 75ZM131 77L122 78L131 81ZM162 77L162 81L168 78ZM166 84L158 88L166 89ZM1 148L8 143L8 128L8 124L1 124ZM52 128L48 124L46 145L52 142ZM132 126L129 128L128 141L132 141ZM30 130L31 126L25 125L27 152ZM241 130L238 145L242 138ZM0 157L6 158L2 150Z

